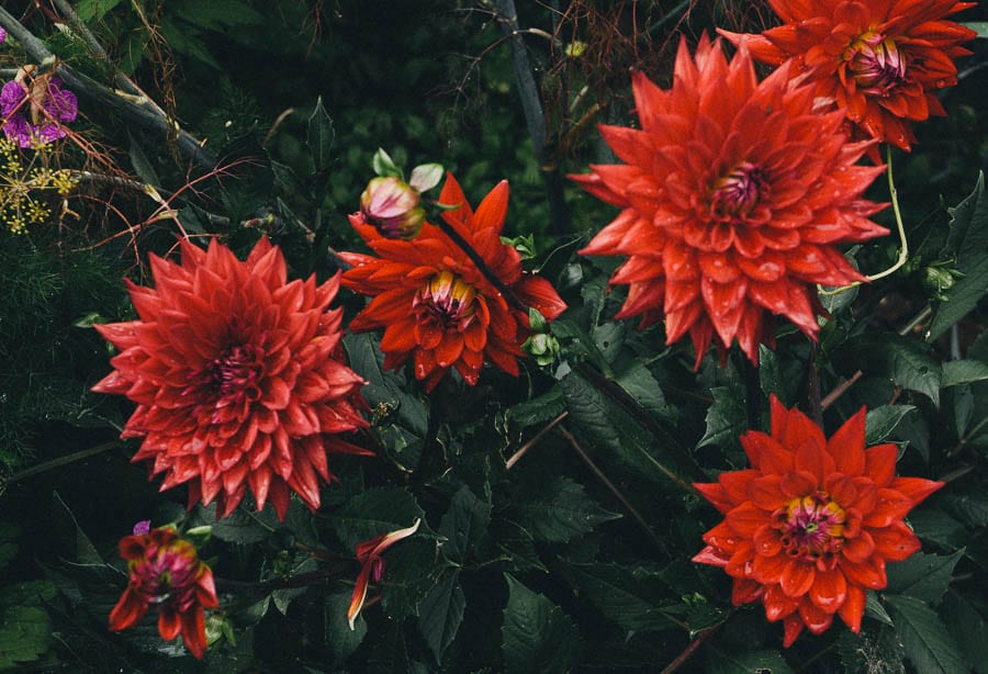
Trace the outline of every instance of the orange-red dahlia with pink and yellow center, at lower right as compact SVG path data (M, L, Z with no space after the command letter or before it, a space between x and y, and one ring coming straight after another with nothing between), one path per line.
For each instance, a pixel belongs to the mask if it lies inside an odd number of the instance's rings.
M741 436L752 468L694 485L725 519L693 561L734 578L736 606L761 600L784 620L786 647L834 614L856 633L866 592L887 584L885 562L920 549L902 518L943 483L896 478L896 446L864 443L864 408L828 440L772 396L772 433Z

